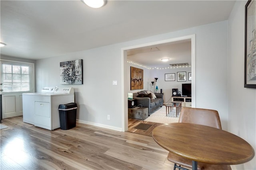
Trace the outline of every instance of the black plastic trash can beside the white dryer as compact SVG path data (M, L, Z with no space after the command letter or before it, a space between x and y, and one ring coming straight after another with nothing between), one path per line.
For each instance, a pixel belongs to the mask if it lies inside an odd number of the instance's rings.
M76 127L76 103L60 104L60 129L68 130Z

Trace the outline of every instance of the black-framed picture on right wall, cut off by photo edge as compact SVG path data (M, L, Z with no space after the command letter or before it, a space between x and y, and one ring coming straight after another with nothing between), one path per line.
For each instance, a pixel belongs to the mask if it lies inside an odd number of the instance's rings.
M256 2L245 5L244 87L256 88Z

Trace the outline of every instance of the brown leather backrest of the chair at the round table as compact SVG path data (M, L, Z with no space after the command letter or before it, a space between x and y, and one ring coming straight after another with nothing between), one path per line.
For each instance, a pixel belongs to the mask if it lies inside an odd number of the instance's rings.
M218 111L211 109L182 107L179 122L194 123L222 129Z

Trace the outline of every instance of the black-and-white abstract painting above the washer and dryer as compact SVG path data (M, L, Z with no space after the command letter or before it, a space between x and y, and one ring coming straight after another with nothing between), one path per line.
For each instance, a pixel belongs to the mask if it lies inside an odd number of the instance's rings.
M60 62L60 84L83 84L82 59Z

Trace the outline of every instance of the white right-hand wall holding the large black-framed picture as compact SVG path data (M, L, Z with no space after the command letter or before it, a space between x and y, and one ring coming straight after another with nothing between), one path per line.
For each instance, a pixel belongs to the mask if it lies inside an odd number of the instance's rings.
M256 149L256 89L244 88L244 9L237 1L228 19L228 131ZM255 170L256 158L235 166Z

